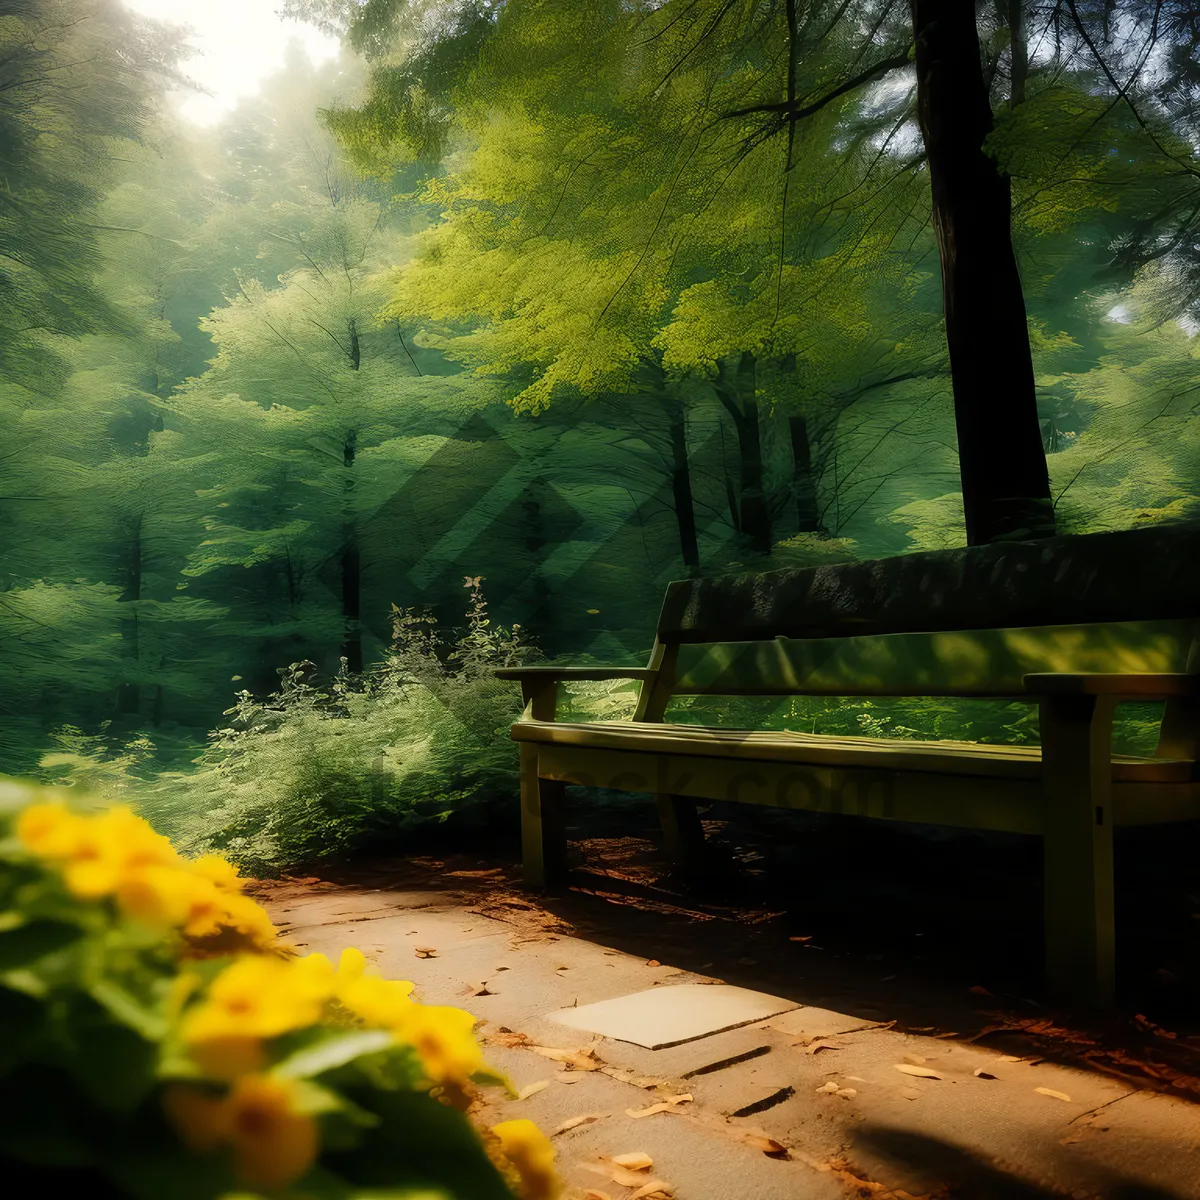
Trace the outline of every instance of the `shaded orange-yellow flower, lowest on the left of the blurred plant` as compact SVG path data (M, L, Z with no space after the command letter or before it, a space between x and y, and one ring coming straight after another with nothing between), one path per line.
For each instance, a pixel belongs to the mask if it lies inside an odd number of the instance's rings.
M287 1082L246 1075L220 1098L176 1085L168 1088L163 1104L190 1150L230 1147L238 1178L251 1187L286 1187L317 1159L317 1124L298 1111Z

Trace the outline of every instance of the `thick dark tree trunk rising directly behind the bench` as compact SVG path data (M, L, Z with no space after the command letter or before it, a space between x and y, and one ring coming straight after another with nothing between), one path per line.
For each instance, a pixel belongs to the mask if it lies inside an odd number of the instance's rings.
M983 149L992 113L974 5L910 2L967 542L1049 536L1054 509L1013 252L1012 191Z

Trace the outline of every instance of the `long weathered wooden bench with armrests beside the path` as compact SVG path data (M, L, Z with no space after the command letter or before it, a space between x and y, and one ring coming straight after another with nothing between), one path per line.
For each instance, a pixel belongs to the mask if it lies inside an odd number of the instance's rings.
M566 785L655 797L694 863L696 802L1036 834L1054 990L1114 990L1112 829L1200 817L1200 527L1007 542L667 587L649 665L516 667L524 877L565 872ZM560 683L641 682L629 721L556 721ZM1042 746L665 724L674 696L1027 700ZM1153 757L1114 756L1121 700L1165 700Z

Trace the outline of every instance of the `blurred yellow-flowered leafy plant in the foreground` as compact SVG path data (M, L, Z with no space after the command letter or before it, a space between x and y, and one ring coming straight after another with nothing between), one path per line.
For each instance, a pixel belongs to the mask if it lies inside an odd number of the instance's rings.
M78 793L70 793L78 794ZM126 808L0 782L0 1171L112 1200L550 1200L527 1121L478 1132L473 1018L358 950L287 956L227 862Z

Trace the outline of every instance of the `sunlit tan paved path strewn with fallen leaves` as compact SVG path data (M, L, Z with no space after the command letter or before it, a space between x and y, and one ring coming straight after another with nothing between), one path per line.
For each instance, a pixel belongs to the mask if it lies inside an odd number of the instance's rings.
M558 1130L577 1196L619 1200L656 1177L679 1200L1200 1200L1200 1085L1165 1031L1145 1022L1138 1044L982 989L889 990L877 964L770 913L614 875L576 882L590 890L544 899L510 865L418 859L260 895L298 948L359 946L420 998L480 1018L522 1094L488 1097L481 1116ZM550 1016L713 982L800 1007L662 1050ZM622 1174L611 1159L630 1153L653 1166Z

